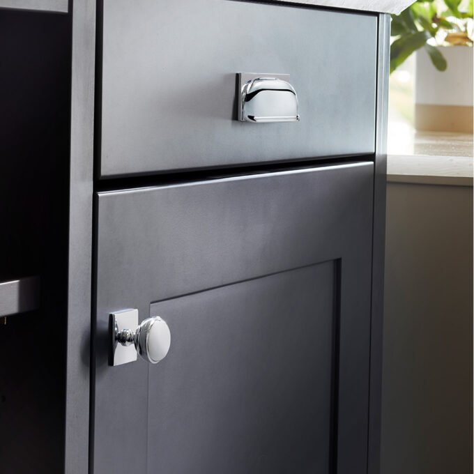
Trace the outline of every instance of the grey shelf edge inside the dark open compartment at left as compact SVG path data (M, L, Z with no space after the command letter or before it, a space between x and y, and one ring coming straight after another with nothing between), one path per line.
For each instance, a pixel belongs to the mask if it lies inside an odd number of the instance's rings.
M33 311L40 306L40 278L0 282L0 316Z

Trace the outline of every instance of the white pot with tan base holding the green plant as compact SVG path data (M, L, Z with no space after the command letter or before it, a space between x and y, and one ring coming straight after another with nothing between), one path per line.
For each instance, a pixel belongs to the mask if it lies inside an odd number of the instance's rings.
M416 53L415 128L473 132L473 49L441 47L448 68L434 68L425 49Z

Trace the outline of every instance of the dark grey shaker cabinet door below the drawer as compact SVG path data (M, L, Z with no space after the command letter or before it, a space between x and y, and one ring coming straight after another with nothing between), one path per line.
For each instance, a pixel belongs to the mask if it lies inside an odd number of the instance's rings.
M95 474L367 469L373 165L98 195ZM161 316L107 364L109 314Z

